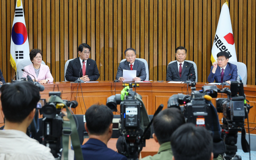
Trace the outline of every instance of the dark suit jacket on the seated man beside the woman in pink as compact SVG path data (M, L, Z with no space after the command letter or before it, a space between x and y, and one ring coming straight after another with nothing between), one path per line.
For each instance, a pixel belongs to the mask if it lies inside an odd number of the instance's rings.
M80 72L80 75L79 75L79 72ZM95 60L88 58L86 62L85 75L87 75L91 81L98 80L98 78L100 77L100 74L99 74L99 70ZM78 57L69 62L65 77L67 81L75 81L82 76L83 76L82 65Z

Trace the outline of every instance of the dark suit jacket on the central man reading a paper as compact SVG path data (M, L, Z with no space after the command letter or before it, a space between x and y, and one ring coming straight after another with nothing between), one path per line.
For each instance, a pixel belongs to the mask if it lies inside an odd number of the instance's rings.
M126 60L126 61L121 62L119 64L118 72L116 73L116 80L118 80L119 77L123 76L123 70L131 70L130 66L129 66L129 63L130 62L127 62L127 60ZM145 67L144 62L141 62L140 60L135 60L132 70L136 70L136 77L139 77L142 81L146 80L147 74L146 74L146 67Z

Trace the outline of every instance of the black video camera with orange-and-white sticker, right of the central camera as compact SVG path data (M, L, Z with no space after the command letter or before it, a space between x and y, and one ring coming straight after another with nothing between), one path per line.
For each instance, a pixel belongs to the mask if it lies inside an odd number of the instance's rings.
M217 96L216 86L203 86L202 90L196 90L196 82L192 82L191 95L174 94L168 100L168 108L176 107L181 110L187 123L193 123L196 126L204 126L207 130L212 130L212 108L206 103L205 95ZM180 105L184 106L180 106Z

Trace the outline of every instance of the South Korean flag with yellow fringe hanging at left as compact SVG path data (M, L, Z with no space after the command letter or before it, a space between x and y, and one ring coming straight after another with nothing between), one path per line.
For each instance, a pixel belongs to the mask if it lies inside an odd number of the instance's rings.
M29 60L28 33L25 24L22 1L16 1L10 48L10 62L16 71L16 65L21 60Z

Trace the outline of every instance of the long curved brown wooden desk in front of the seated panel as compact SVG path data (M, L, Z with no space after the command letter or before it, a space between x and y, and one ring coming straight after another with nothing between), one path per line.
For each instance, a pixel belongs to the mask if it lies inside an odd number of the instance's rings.
M204 85L205 83L198 82L196 84L196 90L200 90ZM89 108L92 104L106 104L108 97L115 95L115 93L120 94L120 91L123 89L121 82L114 83L112 81L82 83L79 86L78 84L70 82L54 82L44 84L44 87L45 90L40 93L41 98L48 98L50 91L53 91L53 89L54 91L58 91L59 88L59 90L62 92L62 99L77 100L78 106L74 109L75 114L84 114L86 112L86 108ZM222 86L218 86L218 88L221 87ZM81 92L81 88L83 92ZM178 93L186 94L186 90L187 84L172 84L167 83L166 81L140 83L140 87L136 88L136 92L142 96L142 100L146 106L148 114L154 114L160 104L164 104L164 108L167 108L167 103L170 96ZM188 90L191 92L190 87L188 87ZM256 126L256 86L244 85L244 93L246 94L246 99L250 101L251 106L254 106L250 109L249 113L249 127L250 130L252 130ZM218 94L218 97L220 98L220 94ZM224 95L224 97L226 96ZM215 105L215 99L212 100L212 103ZM118 110L120 110L119 105ZM1 114L0 126L2 126L4 123L4 115L2 112ZM114 112L114 114L118 113ZM222 114L220 113L219 119L221 118ZM256 134L256 130L253 130L252 133Z

